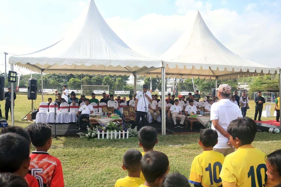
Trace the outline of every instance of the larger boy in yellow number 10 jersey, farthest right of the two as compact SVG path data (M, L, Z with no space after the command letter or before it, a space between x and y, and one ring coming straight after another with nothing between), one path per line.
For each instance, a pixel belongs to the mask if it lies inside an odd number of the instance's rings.
M237 149L227 155L220 177L223 187L262 187L267 181L265 154L253 147L257 125L251 118L230 122L227 132L231 144Z

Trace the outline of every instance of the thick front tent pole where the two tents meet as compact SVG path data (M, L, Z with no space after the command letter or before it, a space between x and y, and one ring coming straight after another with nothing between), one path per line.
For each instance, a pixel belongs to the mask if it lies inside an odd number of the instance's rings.
M163 61L162 61L163 64ZM161 68L161 121L162 121L162 135L166 135L166 85L165 85L165 67Z

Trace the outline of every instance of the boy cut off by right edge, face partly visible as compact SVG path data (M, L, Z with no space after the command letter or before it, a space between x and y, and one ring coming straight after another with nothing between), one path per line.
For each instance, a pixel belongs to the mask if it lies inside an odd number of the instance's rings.
M266 187L281 186L281 149L278 149L267 156L266 168L268 177Z

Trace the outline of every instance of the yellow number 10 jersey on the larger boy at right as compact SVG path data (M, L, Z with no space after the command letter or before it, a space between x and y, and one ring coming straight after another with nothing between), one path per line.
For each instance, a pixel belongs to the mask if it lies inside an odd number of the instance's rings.
M263 187L267 181L265 156L251 144L242 145L225 157L219 176L236 186Z

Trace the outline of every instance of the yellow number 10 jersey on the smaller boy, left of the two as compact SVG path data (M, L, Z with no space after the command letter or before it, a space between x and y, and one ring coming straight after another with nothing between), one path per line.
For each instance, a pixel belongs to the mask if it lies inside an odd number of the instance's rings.
M189 182L203 187L221 186L221 171L225 157L213 150L204 151L192 161Z

